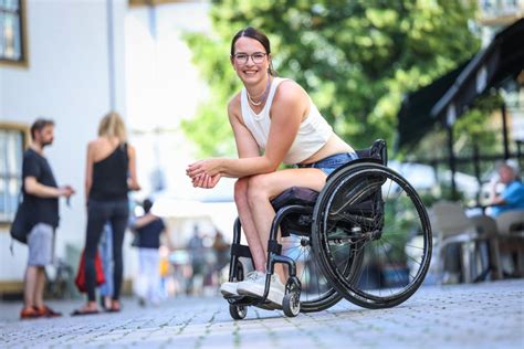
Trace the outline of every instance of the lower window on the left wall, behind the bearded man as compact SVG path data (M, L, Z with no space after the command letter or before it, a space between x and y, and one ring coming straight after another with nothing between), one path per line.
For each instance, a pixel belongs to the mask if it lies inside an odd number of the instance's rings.
M28 134L25 126L0 124L0 224L10 223L14 218Z

